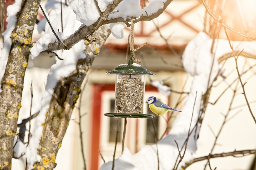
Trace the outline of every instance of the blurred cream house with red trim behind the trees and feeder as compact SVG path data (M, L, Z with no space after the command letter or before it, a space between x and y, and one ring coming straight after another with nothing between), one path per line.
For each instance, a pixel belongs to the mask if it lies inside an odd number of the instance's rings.
M14 0L6 0L5 9L13 3ZM46 0L41 1L42 6L45 3ZM148 0L141 0L141 9L148 3ZM206 4L208 4L215 16L221 16L225 23L234 30L256 37L256 1L209 0L206 1ZM38 20L43 18L41 11L38 12L37 18ZM5 28L6 22L1 29L4 30ZM79 112L83 115L80 121L87 169L98 170L103 164L99 151L106 162L113 159L117 119L105 117L103 114L114 112L116 77L115 75L104 73L115 69L120 64L128 62L127 44L130 30L130 28L125 26L124 39L116 39L110 34L100 54L94 60L92 68L89 70L83 83L82 98L80 97L76 104L67 133L62 141L62 147L56 157L56 170L83 169L81 137L78 125ZM137 51L136 57L142 60L141 65L143 67L156 74L156 76L151 76L150 78L147 76L145 100L149 96L154 95L170 107L174 107L181 97L184 100L178 105L177 109L182 107L187 93L180 94L176 92L189 92L193 79L182 66L182 53L188 42L201 31L207 33L211 38L226 39L223 28L206 13L204 6L199 0L173 0L158 18L153 21L143 21L135 24L134 46L136 47L148 42L148 46L144 46ZM44 32L39 34L35 28L32 43L36 42L43 34ZM250 41L231 31L228 31L228 35L233 41ZM40 99L44 92L47 75L54 63L55 56L47 53L41 53L34 60L29 59L18 123L21 123L22 119L29 117L31 81L33 81L34 93L32 114L40 110ZM238 67L240 72L248 70L255 63L255 59L239 57ZM220 64L223 64L225 71L213 83L209 99L209 102L212 104L208 104L202 122L199 139L197 140L198 150L194 155L195 158L207 156L211 152L213 145L212 153L256 148L255 123L245 104L244 96L241 94L242 89L237 81L234 58L220 61ZM254 114L256 113L255 73L256 68L252 67L242 77L242 80L247 82L245 90ZM176 92L171 92L170 96L159 93L157 88L151 85L151 81L154 80L162 80L164 85L171 87ZM237 90L234 101L231 104L231 109L229 109L234 89ZM223 95L221 95L222 93ZM220 95L221 97L219 98ZM217 102L214 104L216 100ZM144 105L144 113L150 113L146 104ZM175 114L178 113L174 113L169 122L166 120L170 114L162 117L156 116L153 119L158 138L164 136L166 129L171 129L172 122L175 120ZM225 115L227 116L225 117ZM223 125L225 120L226 122ZM35 119L31 121L32 131L34 128ZM122 152L121 142L124 120L121 121L120 129L116 158ZM214 144L214 140L219 132L216 144ZM26 141L25 137L24 142ZM155 134L150 119L128 119L124 146L128 147L132 154L138 152L142 146L154 143ZM13 159L12 169L24 169L25 160L25 157L22 157L20 160ZM187 169L203 170L205 164L206 161L197 162ZM211 166L217 167L218 170L256 170L255 155L241 158L231 156L215 158L211 159ZM209 167L206 167L206 169L209 169Z

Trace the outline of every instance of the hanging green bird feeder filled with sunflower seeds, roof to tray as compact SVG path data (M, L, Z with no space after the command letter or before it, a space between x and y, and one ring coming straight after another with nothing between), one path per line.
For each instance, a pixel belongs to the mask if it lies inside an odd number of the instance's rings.
M115 113L105 116L117 118L154 118L143 114L146 75L155 75L129 60L106 74L116 74Z

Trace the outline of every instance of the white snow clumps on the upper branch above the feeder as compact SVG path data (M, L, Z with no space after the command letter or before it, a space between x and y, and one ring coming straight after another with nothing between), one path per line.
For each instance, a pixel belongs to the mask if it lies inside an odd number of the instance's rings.
M113 3L113 1L114 0L98 0L97 3L100 8L100 11L105 11L107 9L107 6ZM142 14L144 16L147 16L145 11L147 11L148 15L150 16L153 13L156 13L159 9L162 9L164 7L165 2L166 0L149 0L149 4L146 6L146 8L140 9L140 0L123 0L113 10L119 10L119 12L110 14L108 16L108 19L118 17L124 18L124 20L131 17L139 18ZM76 19L78 21L81 21L86 26L92 25L100 17L100 13L97 9L94 0L70 0L70 6L76 13ZM124 38L124 26L124 23L110 24L111 32L117 39Z

